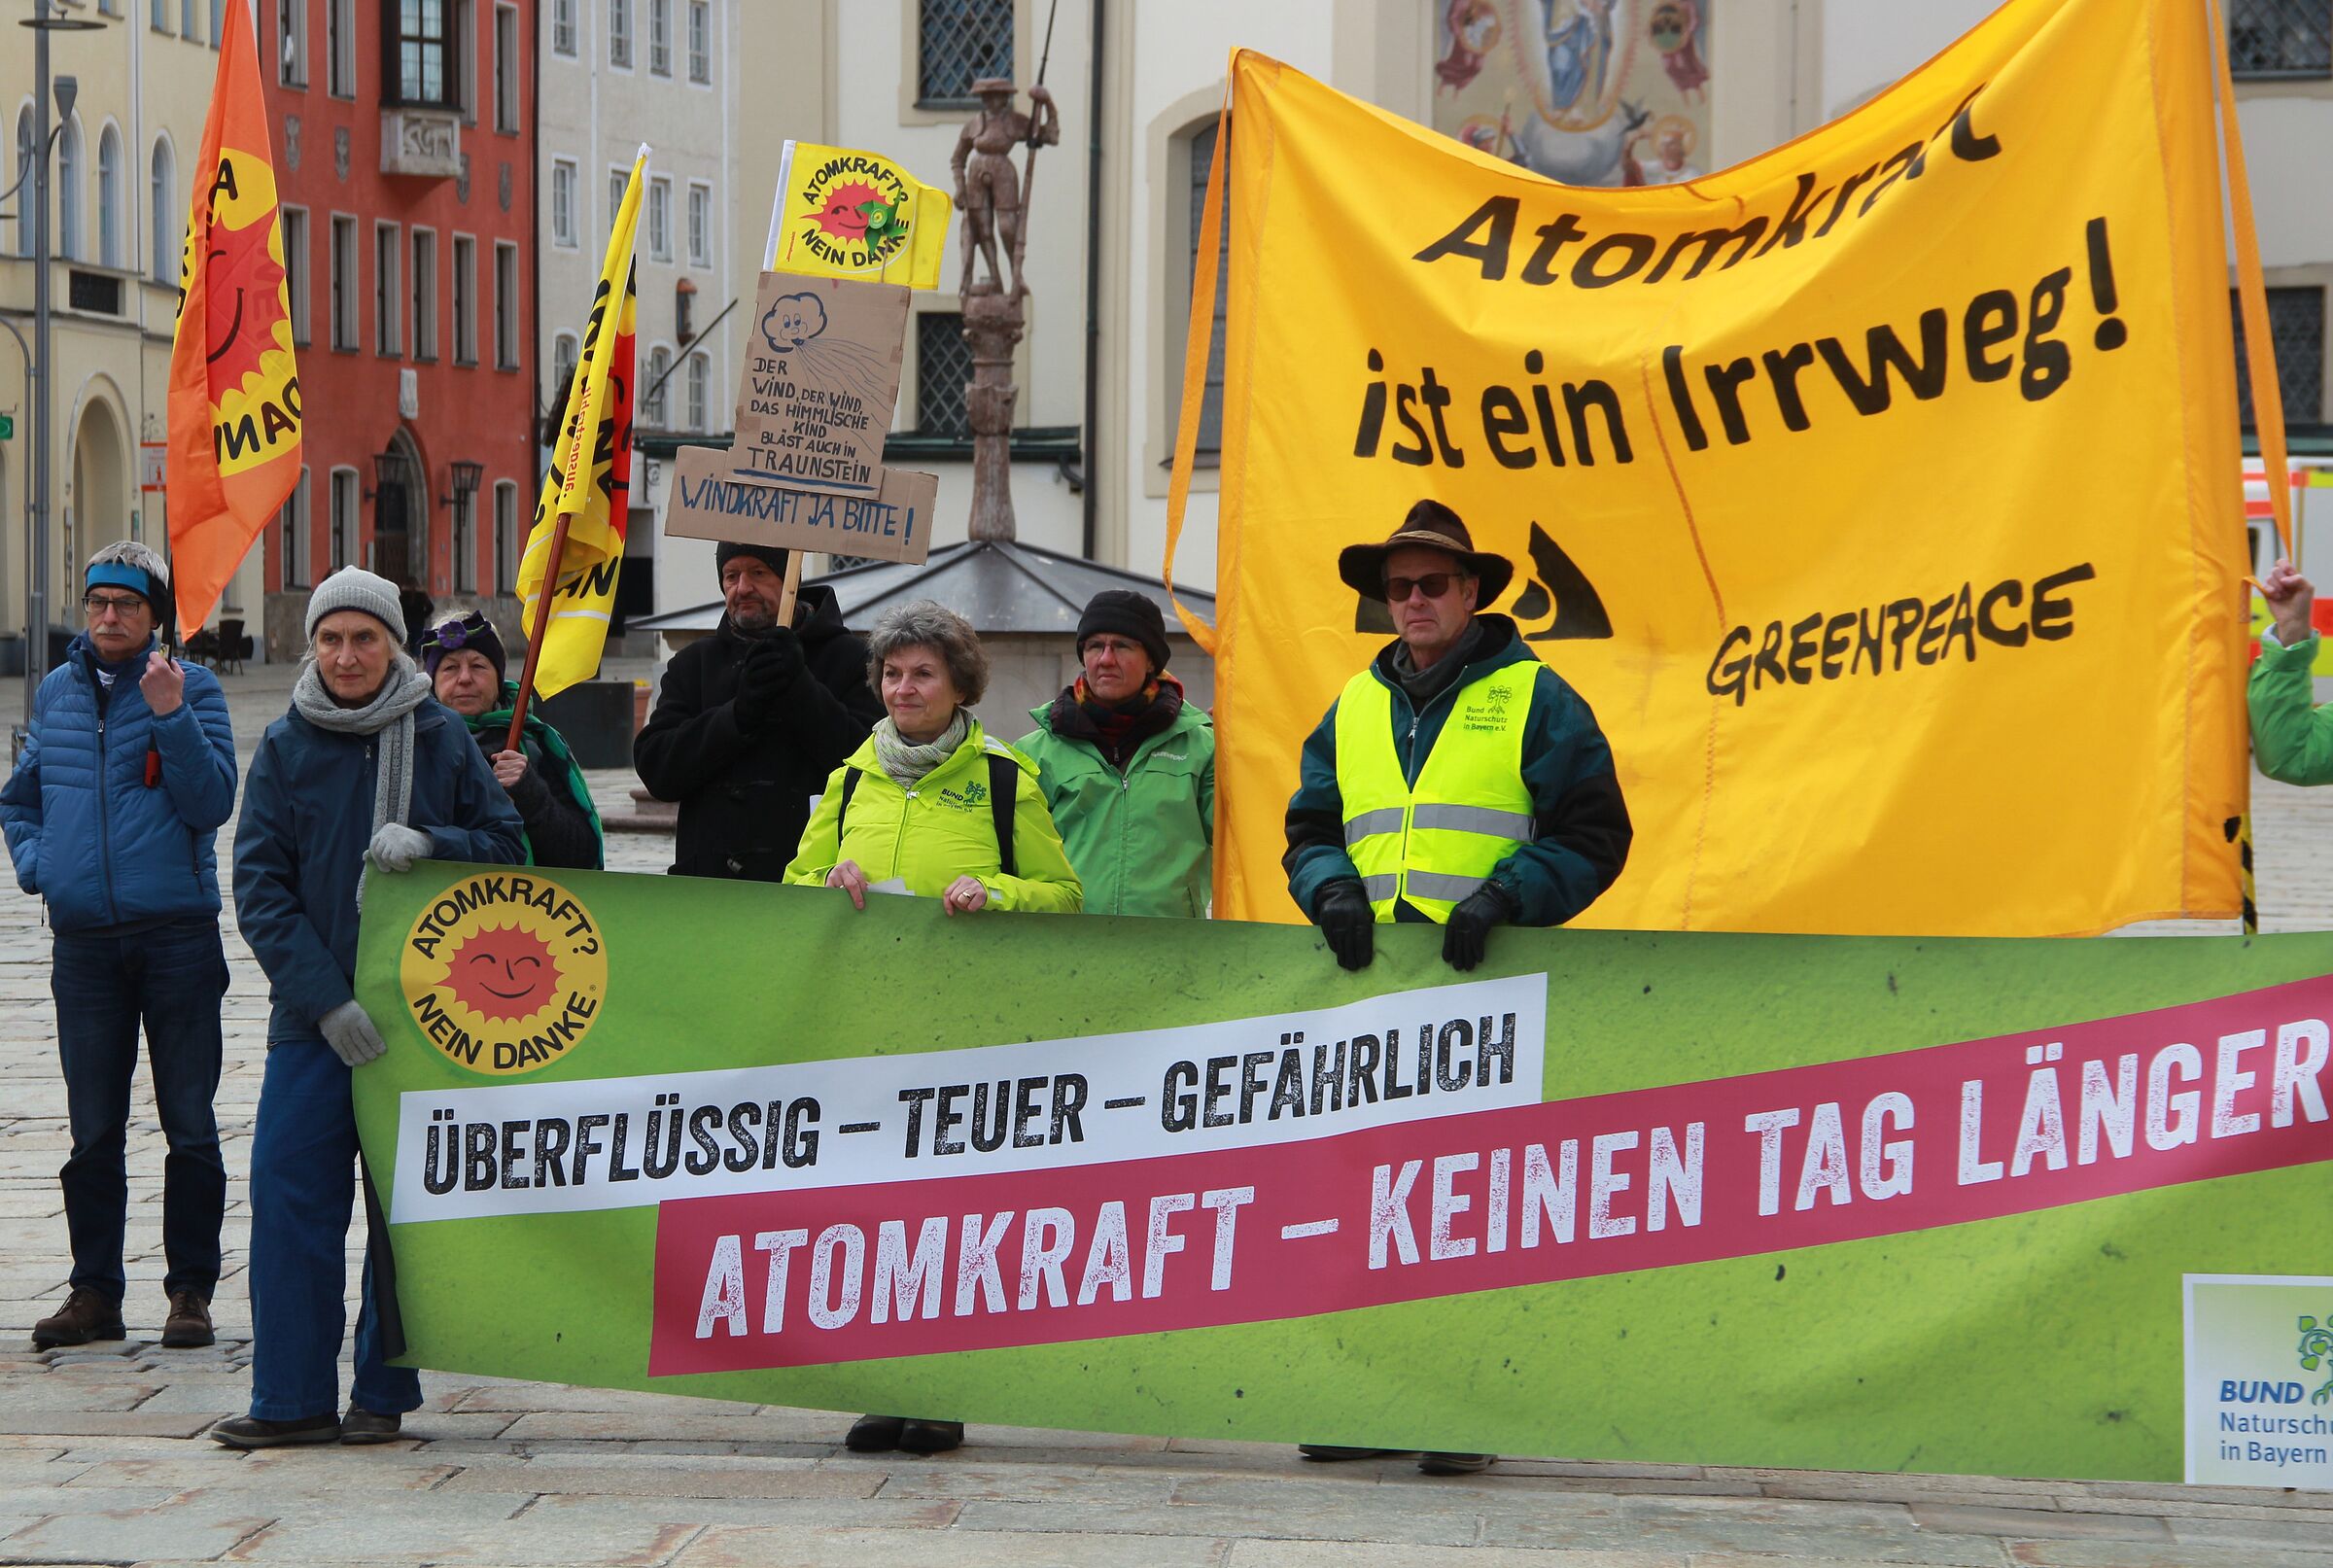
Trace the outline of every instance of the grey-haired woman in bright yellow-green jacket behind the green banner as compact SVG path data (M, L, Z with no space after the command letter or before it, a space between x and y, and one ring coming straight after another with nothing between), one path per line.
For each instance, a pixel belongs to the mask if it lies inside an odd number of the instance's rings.
M1085 894L1052 826L1036 763L989 740L971 705L989 658L971 623L931 600L887 609L868 639L868 684L884 719L819 796L786 882L868 889L905 882L950 915L1041 910L1076 915ZM861 1454L940 1454L961 1421L861 1416L845 1444Z

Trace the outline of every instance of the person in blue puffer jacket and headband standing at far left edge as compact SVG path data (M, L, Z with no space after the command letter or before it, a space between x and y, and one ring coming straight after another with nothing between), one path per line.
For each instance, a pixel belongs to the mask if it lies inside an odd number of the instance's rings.
M0 821L16 884L49 901L56 1055L72 1153L58 1171L72 1283L33 1346L121 1339L124 1146L145 1022L163 1162L161 1239L170 1297L161 1342L210 1344L226 1167L219 1090L219 868L212 838L236 807L226 695L154 642L173 621L170 567L110 544L82 586L89 630L33 702L30 742Z

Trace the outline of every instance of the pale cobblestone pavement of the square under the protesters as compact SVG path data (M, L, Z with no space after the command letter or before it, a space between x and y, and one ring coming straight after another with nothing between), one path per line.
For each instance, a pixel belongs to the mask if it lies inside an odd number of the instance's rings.
M229 691L247 758L289 674L252 670ZM628 805L630 775L593 784ZM2265 924L2333 926L2333 789L2263 784L2256 800ZM618 870L660 870L667 852L611 838ZM1402 1461L1320 1468L1283 1447L1008 1428L915 1461L845 1454L847 1419L828 1412L446 1374L422 1377L411 1440L229 1454L201 1433L247 1398L240 1174L266 985L229 938L219 1346L154 1344L163 1143L140 1076L131 1339L33 1353L68 1269L47 947L37 903L0 896L0 1563L2333 1568L2333 1493L1521 1458L1428 1479Z

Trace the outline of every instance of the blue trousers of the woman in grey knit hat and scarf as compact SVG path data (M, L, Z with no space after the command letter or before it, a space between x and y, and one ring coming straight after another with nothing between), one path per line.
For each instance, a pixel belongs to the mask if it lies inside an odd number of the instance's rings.
M348 1216L357 1197L350 1069L324 1041L275 1041L252 1134L252 1414L301 1421L341 1407L348 1328ZM420 1409L422 1379L380 1351L373 1260L357 1309L350 1402L383 1416Z

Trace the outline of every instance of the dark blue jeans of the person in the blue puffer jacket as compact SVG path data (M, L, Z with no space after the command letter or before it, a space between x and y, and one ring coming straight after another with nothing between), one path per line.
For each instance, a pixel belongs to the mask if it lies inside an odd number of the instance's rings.
M56 1174L72 1237L72 1283L121 1304L121 1220L128 1183L121 1155L145 1022L154 1108L170 1155L161 1167L163 1290L205 1302L219 1283L219 1216L226 1164L210 1101L219 1092L219 1001L226 952L215 919L187 919L135 936L58 931L49 971L56 1057L65 1069L72 1153Z

